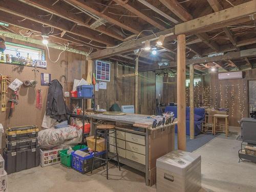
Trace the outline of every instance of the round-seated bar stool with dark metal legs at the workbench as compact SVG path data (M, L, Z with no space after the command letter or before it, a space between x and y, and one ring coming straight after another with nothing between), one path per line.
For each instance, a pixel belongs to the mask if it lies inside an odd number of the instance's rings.
M114 155L112 158L109 158L108 154L109 154L109 135L110 134L115 134L115 142L116 142L116 155ZM97 152L96 152L96 148L97 148L97 136L103 136L105 139L105 152L106 152L106 157L100 158L97 157ZM109 125L109 124L102 124L102 125L98 125L96 130L95 130L95 147L94 147L94 156L93 156L93 165L92 165L92 169L91 169L91 174L93 173L93 168L94 168L94 160L96 159L100 159L106 162L106 179L109 179L109 161L112 160L113 158L117 158L117 163L118 163L118 167L119 170L120 169L120 164L119 164L119 156L118 156L118 151L117 151L117 140L116 140L116 129L114 125Z

